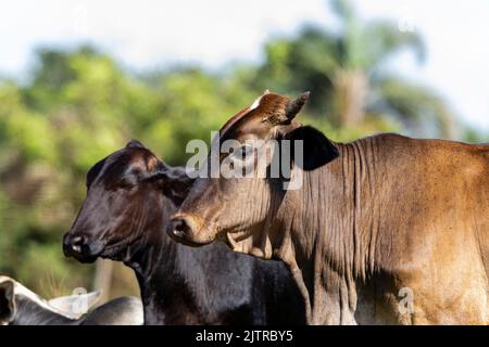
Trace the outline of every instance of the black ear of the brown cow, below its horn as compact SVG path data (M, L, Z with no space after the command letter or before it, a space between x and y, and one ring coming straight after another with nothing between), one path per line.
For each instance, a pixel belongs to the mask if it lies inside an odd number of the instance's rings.
M294 141L302 141L302 151L292 153L292 160L304 170L313 170L339 156L338 147L319 130L310 127L298 127L285 137L292 142L292 149L298 144ZM298 156L301 155L302 158Z

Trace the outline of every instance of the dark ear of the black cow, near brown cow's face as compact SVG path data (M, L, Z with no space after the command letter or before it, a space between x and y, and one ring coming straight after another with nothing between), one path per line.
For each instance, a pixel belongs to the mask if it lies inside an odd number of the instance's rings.
M179 205L187 196L195 178L189 177L183 167L170 167L160 163L156 170L147 175L143 180L158 184L163 195Z

